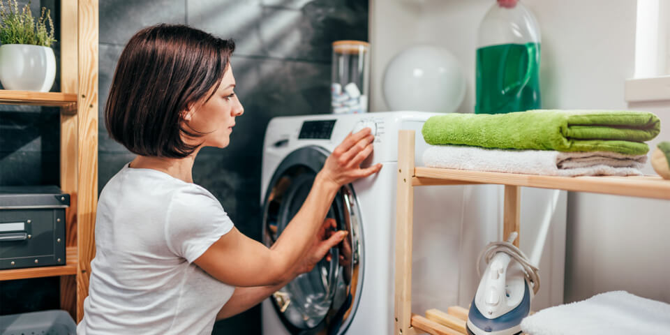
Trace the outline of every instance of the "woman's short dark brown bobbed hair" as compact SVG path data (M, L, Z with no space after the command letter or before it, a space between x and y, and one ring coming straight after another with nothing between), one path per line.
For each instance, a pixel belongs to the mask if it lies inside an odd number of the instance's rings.
M121 53L105 105L110 137L141 156L192 154L198 145L182 135L202 133L185 128L183 114L218 89L234 49L232 40L181 24L137 31Z

